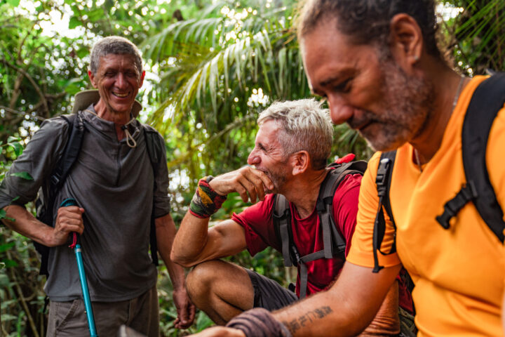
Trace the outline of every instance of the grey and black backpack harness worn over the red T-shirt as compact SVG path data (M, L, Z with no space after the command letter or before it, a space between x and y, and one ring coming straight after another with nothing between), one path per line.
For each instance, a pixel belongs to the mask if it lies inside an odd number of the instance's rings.
M316 209L321 227L323 228L324 249L310 253L306 256L299 256L297 246L293 242L291 228L291 212L288 200L282 194L274 197L274 229L276 235L282 243L282 253L284 265L300 266L300 298L307 295L307 262L320 258L334 258L338 256L345 260L346 242L338 232L333 219L333 196L339 184L348 174L361 174L367 168L366 161L351 161L349 163L332 163L328 167L333 168L328 172L321 187L316 201Z

